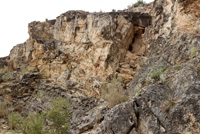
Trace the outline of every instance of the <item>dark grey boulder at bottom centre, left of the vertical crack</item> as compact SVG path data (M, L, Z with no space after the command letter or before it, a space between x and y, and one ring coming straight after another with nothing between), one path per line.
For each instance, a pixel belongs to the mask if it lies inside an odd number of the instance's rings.
M116 105L107 112L97 128L84 134L128 134L137 127L137 114L133 101Z

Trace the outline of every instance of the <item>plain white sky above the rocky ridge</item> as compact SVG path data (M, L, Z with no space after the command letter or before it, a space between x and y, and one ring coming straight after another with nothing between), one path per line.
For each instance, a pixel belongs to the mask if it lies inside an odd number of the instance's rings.
M24 43L28 23L55 19L68 10L110 12L123 10L137 0L1 0L0 57L8 56L13 46ZM144 0L146 3L153 0Z

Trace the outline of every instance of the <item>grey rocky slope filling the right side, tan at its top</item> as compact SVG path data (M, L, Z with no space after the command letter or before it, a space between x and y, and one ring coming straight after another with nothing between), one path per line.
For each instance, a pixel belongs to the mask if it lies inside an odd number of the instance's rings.
M141 134L198 134L199 0L155 0L145 30L147 59L129 83ZM153 36L152 36L153 35Z

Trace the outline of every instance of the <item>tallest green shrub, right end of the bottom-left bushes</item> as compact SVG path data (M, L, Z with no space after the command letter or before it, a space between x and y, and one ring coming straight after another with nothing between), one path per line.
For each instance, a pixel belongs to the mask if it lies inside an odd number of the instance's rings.
M54 100L52 109L47 114L47 119L51 122L50 132L54 134L70 133L70 103L67 99Z

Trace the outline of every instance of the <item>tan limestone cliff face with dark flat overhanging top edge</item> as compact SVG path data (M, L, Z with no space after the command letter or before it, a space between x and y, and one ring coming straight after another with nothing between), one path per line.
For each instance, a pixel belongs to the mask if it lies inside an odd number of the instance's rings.
M132 79L138 55L145 50L141 35L150 20L148 14L132 12L69 11L56 20L30 23L30 38L13 48L10 60L17 68L21 58L63 87L70 81L86 95L99 94L92 89L95 79Z

